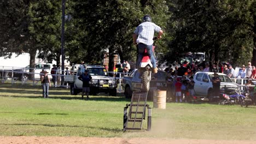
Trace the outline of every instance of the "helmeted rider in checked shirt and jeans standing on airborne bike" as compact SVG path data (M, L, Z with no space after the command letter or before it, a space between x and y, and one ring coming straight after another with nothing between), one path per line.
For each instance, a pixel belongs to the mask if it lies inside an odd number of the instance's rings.
M153 55L152 47L154 43L154 33L158 32L158 39L161 39L162 30L161 27L155 25L149 15L143 17L143 22L136 27L132 34L133 44L138 44L138 59L136 62L136 68L139 68L139 63L142 61L145 48L147 49L148 56L153 65L153 73L158 73L156 67L155 57Z

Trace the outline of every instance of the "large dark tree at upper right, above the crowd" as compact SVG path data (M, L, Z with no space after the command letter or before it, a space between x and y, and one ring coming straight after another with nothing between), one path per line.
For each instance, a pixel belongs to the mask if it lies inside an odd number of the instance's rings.
M248 8L253 1L173 2L169 61L181 51L206 52L207 60L217 63L241 64L251 58L253 18Z

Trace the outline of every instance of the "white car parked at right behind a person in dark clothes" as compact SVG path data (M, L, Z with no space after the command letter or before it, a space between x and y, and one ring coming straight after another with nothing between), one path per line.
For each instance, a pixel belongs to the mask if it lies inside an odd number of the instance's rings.
M235 93L239 86L234 83L227 75L218 73L220 78L220 91L226 94ZM197 72L194 76L195 94L200 97L209 97L212 93L213 72Z

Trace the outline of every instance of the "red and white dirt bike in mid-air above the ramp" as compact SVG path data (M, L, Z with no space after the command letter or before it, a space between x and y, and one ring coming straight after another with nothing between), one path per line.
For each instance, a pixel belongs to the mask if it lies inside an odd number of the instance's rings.
M157 37L154 37L153 40L156 40ZM155 46L152 47L153 55L155 57ZM144 55L141 63L139 63L139 73L141 74L141 83L142 83L142 92L148 92L150 88L150 80L153 71L153 64L150 61L148 56L147 49L144 50Z

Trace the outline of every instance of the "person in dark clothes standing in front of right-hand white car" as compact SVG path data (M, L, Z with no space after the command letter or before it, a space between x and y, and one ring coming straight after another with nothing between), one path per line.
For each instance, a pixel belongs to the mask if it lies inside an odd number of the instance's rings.
M220 78L217 72L214 72L214 76L212 77L212 89L213 93L210 99L219 97L219 89L220 89Z

